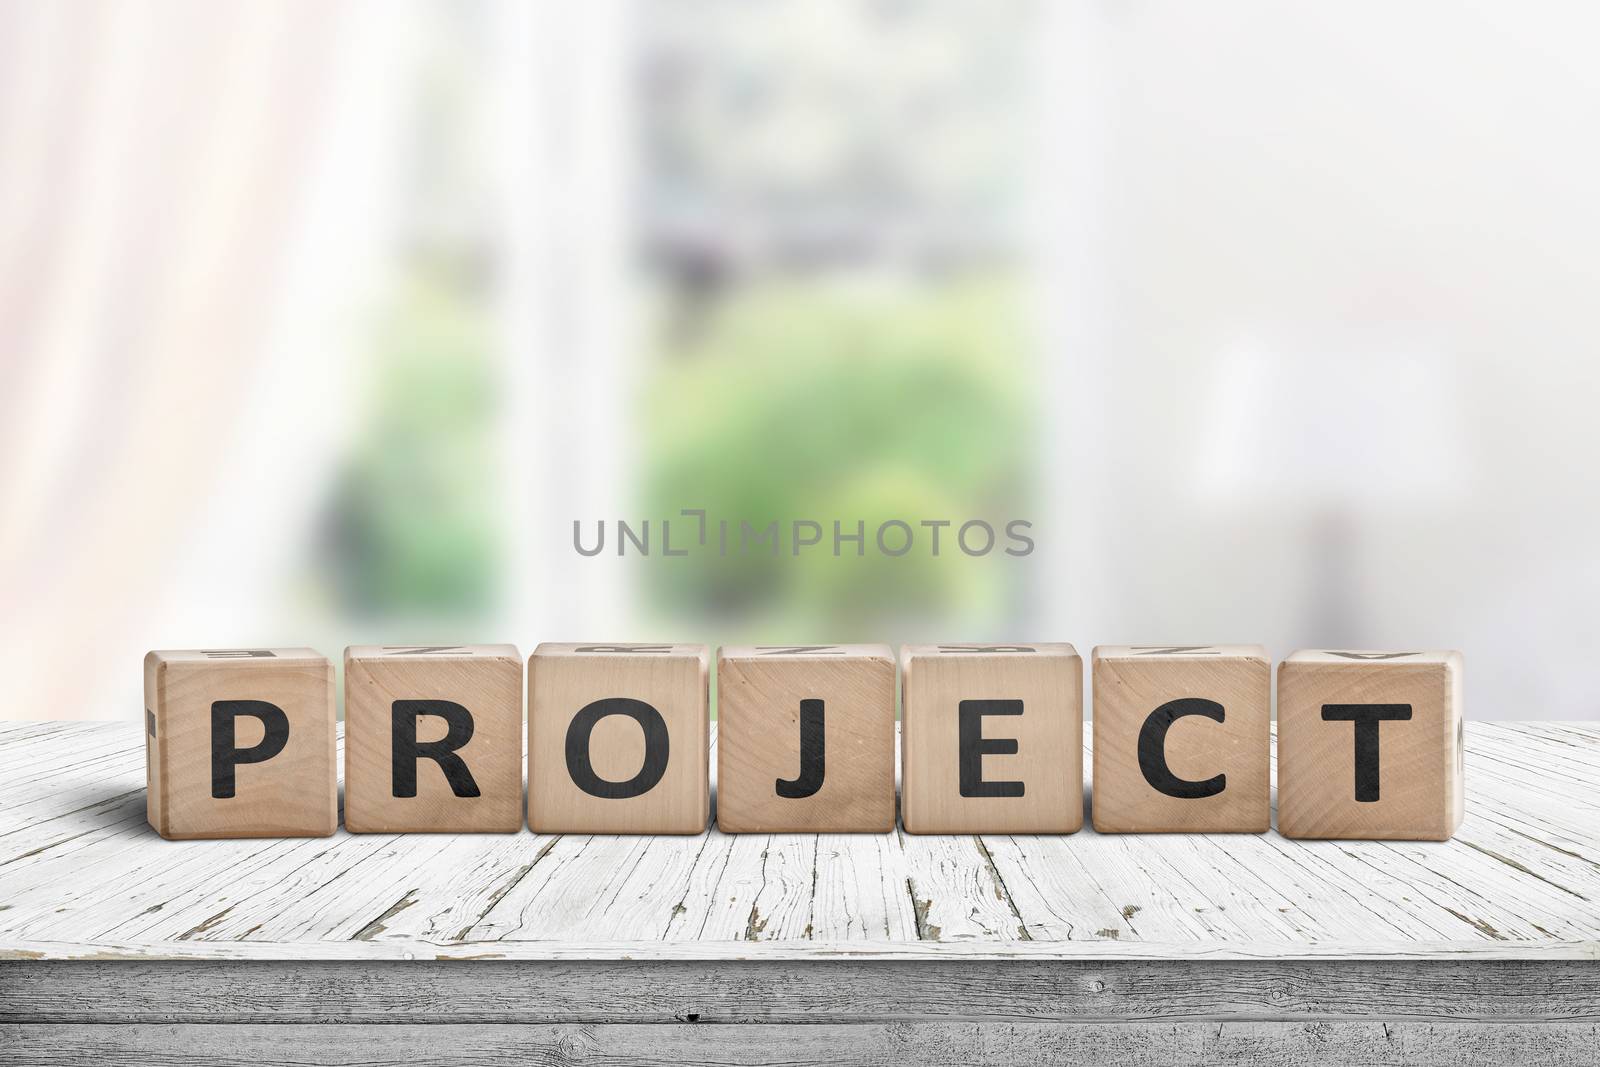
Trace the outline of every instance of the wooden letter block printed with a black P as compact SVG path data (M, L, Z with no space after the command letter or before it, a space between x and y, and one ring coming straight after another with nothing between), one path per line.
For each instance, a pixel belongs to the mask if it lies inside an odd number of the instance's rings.
M328 837L333 664L309 648L144 657L146 817L170 840Z

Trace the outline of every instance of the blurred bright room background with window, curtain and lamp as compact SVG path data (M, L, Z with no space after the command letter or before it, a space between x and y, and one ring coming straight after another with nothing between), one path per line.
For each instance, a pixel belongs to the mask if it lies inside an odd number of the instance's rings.
M1597 30L0 0L0 717L136 718L149 648L918 638L1600 717ZM869 552L573 549L682 509Z

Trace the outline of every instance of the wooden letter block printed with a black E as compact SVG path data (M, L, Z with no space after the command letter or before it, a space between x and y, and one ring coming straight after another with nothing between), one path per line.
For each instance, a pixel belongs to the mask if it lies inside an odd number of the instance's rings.
M1070 645L909 645L901 672L906 830L1083 825L1083 661Z

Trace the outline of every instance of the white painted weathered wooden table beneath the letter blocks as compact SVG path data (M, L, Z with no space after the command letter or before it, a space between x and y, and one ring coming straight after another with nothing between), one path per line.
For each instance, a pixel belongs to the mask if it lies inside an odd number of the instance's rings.
M1600 726L1472 723L1467 790L1443 845L171 843L138 725L0 723L0 1062L1597 1064Z

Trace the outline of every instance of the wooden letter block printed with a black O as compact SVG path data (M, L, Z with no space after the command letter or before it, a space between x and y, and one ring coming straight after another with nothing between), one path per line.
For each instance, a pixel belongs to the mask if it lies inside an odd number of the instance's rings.
M539 645L528 661L528 825L704 832L709 669L704 645Z

